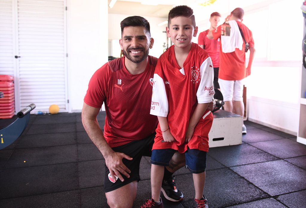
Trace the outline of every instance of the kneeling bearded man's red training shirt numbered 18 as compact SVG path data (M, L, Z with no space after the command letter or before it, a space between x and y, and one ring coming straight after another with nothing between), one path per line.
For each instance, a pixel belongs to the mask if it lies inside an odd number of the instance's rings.
M141 74L130 74L125 56L112 60L91 77L84 102L101 108L105 104L104 137L110 147L141 140L155 132L158 119L150 115L153 74L157 58L148 56Z

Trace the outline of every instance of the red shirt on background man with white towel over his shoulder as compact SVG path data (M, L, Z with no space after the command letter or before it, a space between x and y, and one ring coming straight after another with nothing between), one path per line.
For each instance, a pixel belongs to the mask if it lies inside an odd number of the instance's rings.
M244 38L250 47L254 47L254 39L252 31L247 28L242 22L236 21L241 28ZM216 30L212 30L214 39L217 40L221 37L221 26L219 25ZM224 80L241 80L246 77L245 67L245 43L243 41L242 50L238 48L231 53L222 52L222 41L220 38L220 66L219 66L219 78Z

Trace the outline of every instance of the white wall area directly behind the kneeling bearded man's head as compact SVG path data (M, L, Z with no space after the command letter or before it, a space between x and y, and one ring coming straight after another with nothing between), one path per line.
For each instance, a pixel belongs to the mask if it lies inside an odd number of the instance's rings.
M120 45L119 39L121 39L121 28L120 22L129 16L135 16L137 14L131 15L124 15L124 14L109 14L108 15L108 40L114 41L113 45L113 56L119 57L120 56ZM166 33L162 31L166 31L166 25L157 26L159 23L167 20L166 18L159 18L159 17L146 17L142 16L147 19L150 23L150 31L151 36L154 39L153 48L150 49L149 55L159 57L163 53L164 47L163 44L166 42L167 36ZM170 47L170 46L169 46Z

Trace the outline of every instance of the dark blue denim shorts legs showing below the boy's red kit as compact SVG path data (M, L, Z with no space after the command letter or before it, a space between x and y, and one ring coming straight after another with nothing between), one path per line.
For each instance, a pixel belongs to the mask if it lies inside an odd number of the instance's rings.
M151 156L151 164L169 166L169 162L177 152L175 149L153 149ZM189 149L185 152L186 168L192 173L202 173L206 170L206 154L207 152L198 149Z

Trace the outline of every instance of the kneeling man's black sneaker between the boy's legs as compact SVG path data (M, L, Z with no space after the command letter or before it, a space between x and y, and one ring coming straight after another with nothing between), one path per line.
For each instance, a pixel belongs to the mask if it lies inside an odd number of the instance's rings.
M183 193L178 190L174 183L175 176L170 176L167 180L162 180L162 193L164 197L172 202L179 202L183 200Z

